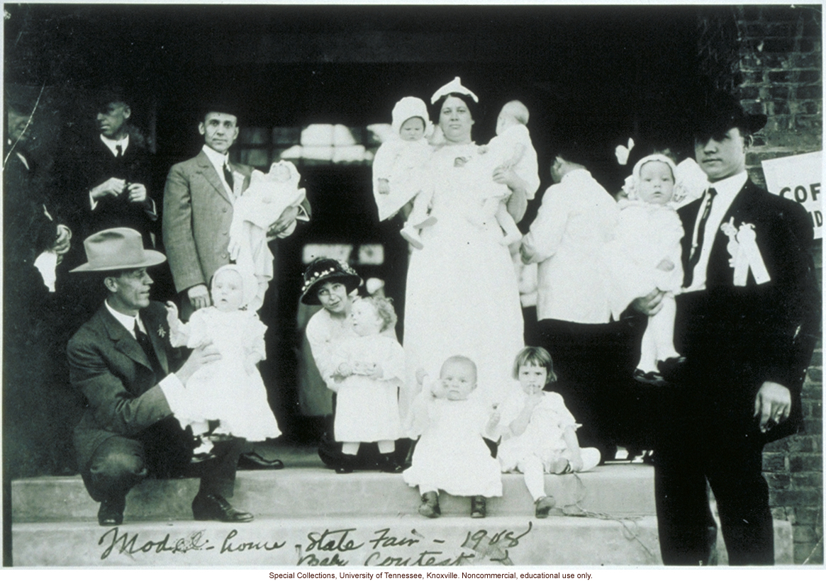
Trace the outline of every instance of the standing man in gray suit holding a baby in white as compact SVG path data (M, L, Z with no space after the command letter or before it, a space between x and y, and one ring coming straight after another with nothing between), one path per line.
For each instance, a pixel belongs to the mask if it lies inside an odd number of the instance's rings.
M252 168L230 163L228 151L238 138L238 116L228 106L207 107L198 131L204 136L197 156L169 170L164 191L164 246L175 289L184 293L182 316L211 305L209 281L229 264L230 224L235 199L249 186ZM292 234L296 220L310 219L310 205L284 210L268 236Z

